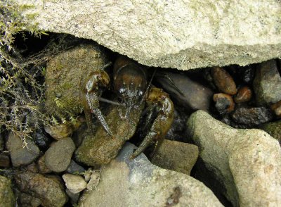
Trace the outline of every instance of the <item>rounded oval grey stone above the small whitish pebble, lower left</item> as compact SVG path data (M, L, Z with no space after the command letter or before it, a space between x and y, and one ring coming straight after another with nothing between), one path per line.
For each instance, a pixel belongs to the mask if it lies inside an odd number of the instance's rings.
M45 153L45 163L53 172L63 172L70 165L75 144L70 137L53 142Z

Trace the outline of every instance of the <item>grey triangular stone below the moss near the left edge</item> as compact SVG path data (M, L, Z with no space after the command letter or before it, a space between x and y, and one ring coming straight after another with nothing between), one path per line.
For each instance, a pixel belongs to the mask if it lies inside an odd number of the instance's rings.
M8 136L7 148L11 152L11 161L14 167L28 165L39 157L40 150L37 145L26 138L26 146L23 146L22 139L10 133Z

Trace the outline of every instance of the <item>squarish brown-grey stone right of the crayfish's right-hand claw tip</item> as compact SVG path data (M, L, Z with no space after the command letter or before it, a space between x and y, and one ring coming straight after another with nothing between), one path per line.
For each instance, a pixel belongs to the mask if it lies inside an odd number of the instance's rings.
M198 146L164 139L151 162L160 168L190 175L198 158Z

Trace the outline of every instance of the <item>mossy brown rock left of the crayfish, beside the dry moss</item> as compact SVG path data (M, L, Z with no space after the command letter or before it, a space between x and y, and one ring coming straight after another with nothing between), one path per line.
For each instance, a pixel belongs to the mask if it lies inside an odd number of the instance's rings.
M81 113L86 80L106 63L98 44L82 44L52 58L46 66L46 113L64 118Z

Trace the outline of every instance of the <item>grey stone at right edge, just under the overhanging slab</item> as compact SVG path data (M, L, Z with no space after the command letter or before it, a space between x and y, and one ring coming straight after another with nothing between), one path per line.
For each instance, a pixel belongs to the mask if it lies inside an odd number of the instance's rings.
M254 78L254 92L259 105L281 100L281 77L275 60L259 64Z

